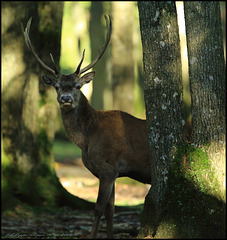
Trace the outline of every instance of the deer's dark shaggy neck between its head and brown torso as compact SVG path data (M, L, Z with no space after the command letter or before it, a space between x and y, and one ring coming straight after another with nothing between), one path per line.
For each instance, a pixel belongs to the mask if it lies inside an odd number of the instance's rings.
M78 106L70 111L61 109L61 116L67 137L82 150L87 149L88 138L97 128L97 118L82 92Z

